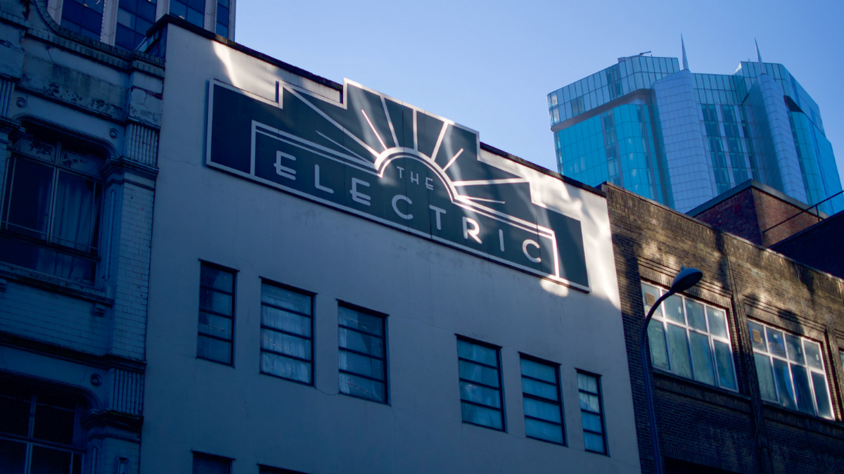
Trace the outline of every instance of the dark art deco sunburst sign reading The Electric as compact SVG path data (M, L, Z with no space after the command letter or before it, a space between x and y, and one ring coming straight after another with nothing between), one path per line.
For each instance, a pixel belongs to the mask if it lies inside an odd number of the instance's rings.
M278 102L208 94L208 166L588 289L580 222L482 161L477 132L348 80L343 104L287 83Z

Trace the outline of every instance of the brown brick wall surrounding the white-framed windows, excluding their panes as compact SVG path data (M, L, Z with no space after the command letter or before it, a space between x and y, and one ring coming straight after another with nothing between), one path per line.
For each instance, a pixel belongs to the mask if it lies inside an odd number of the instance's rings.
M657 431L668 465L728 472L840 471L841 363L834 359L836 339L844 336L841 280L617 186L604 185L603 191L613 231L642 471L654 471L654 463L639 355L645 318L641 281L668 288L681 267L704 272L701 283L686 294L728 312L738 393L656 371ZM742 200L747 197L722 204L729 210ZM748 319L822 344L836 422L761 400Z

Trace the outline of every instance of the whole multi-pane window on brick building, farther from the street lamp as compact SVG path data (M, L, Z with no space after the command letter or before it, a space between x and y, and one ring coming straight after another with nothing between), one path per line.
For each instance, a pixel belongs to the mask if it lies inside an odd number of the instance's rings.
M753 321L748 329L762 398L832 418L820 344Z

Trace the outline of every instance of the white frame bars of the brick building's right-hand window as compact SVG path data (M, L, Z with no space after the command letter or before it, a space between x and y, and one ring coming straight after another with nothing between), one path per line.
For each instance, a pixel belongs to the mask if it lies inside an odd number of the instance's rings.
M792 412L798 412L800 414L809 415L811 417L819 417L819 418L823 418L825 420L835 421L836 420L836 410L835 410L834 401L833 401L832 396L831 396L832 394L830 393L831 392L831 390L830 390L830 376L829 376L829 374L826 373L826 369L827 369L828 364L826 364L826 362L824 360L824 344L823 344L823 342L816 341L816 340L811 339L809 337L804 337L801 334L795 334L793 332L786 331L786 330L784 330L780 327L772 326L770 324L761 322L759 320L748 320L747 322L748 322L748 334L749 334L749 338L750 338L750 346L753 349L753 355L754 355L754 368L755 368L755 370L757 370L757 374L756 374L757 384L758 384L760 377L759 377L759 373L758 373L759 368L755 364L756 354L759 354L760 356L768 358L768 361L769 361L769 364L770 364L769 367L771 369L771 378L774 382L774 392L776 393L777 399L771 400L769 398L762 396L761 387L760 387L760 398L762 399L762 401L773 403L773 404L776 405L776 407L780 407L782 409L789 410L789 411L792 411ZM762 326L763 331L764 331L764 334L762 334L762 337L763 337L763 340L766 344L766 350L765 351L762 351L759 348L754 346L755 340L753 338L753 330L750 327L751 324ZM782 337L783 337L782 343L784 344L784 346L786 348L786 355L785 356L778 355L778 354L774 353L773 351L771 351L771 342L768 341L768 331L767 331L768 329L771 329L772 331L777 331L777 332L782 334ZM822 368L817 369L817 368L812 367L808 363L804 362L803 364L801 364L796 360L792 360L789 357L789 353L788 353L789 347L788 347L788 342L787 342L787 339L786 339L786 337L788 337L788 336L797 337L800 340L800 348L803 351L803 358L804 359L808 358L808 356L806 355L806 342L811 342L813 344L816 344L818 346L818 352L820 353L820 364L821 364ZM790 392L792 393L792 395L794 397L793 401L794 401L795 407L793 407L793 408L786 407L785 405L783 405L782 401L779 400L779 398L780 398L779 381L777 380L776 369L774 368L774 364L773 364L774 359L783 361L787 365L788 382L791 385L790 387L787 387L787 390L790 388ZM797 385L794 384L794 373L793 373L793 368L792 368L793 365L798 365L800 367L803 367L803 369L806 369L806 371L808 373L807 380L809 382L809 391L811 392L812 411L813 411L811 413L803 412L803 410L800 410L800 408L799 408L800 402L798 401ZM826 401L829 403L829 406L830 406L830 417L825 417L825 416L820 414L820 410L819 410L819 407L818 407L818 396L817 396L817 394L815 393L815 390L814 390L814 381L812 380L812 374L822 374L824 376L824 385L825 385L825 389L826 389L825 395L826 395Z

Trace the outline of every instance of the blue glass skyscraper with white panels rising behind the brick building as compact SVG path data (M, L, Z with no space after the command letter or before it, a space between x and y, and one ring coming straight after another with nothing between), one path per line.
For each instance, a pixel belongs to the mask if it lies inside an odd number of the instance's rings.
M560 174L609 181L681 212L754 179L815 204L841 191L820 110L781 64L699 74L624 57L548 94ZM844 196L820 205L832 214Z

